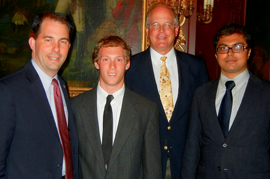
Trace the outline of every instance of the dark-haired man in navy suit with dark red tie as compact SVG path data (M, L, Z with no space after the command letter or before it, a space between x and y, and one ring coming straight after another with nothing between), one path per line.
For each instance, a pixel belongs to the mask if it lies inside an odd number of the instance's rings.
M73 29L64 14L36 16L32 59L0 79L0 179L79 179L78 134L66 84L57 75Z

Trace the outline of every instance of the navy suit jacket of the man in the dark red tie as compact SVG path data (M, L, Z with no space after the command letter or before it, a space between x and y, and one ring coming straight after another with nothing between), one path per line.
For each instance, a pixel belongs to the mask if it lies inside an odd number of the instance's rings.
M64 81L74 179L78 134ZM0 179L61 179L63 150L42 82L29 61L0 79Z

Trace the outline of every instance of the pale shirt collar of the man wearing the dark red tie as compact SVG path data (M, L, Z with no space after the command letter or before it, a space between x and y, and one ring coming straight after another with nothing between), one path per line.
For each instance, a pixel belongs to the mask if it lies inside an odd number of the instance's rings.
M42 82L42 84L43 84L43 87L44 87L45 91L47 92L47 91L49 90L49 88L50 88L50 85L51 85L51 83L52 83L52 80L53 80L54 78L56 78L57 81L58 81L58 76L57 76L57 74L52 78L52 77L48 76L45 72L43 72L43 71L39 68L39 66L36 64L36 62L33 60L33 58L31 59L31 62L32 62L32 65L34 66L34 68L35 68L35 70L36 70L36 72L37 72L39 78L41 79L41 82Z

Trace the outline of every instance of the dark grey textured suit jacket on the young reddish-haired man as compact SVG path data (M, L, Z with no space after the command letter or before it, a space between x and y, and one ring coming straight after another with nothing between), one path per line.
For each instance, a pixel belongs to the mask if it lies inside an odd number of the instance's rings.
M80 179L161 179L158 107L125 89L108 170L102 153L97 88L71 99L79 134Z

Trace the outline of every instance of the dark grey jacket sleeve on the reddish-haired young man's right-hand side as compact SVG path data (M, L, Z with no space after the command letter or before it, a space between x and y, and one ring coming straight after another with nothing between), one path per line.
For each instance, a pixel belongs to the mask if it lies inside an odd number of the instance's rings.
M144 133L142 158L143 178L162 179L159 109L157 105L149 116L149 122Z

